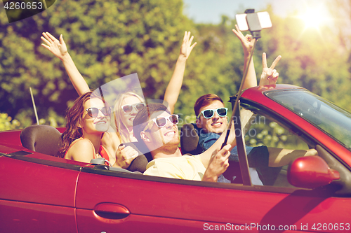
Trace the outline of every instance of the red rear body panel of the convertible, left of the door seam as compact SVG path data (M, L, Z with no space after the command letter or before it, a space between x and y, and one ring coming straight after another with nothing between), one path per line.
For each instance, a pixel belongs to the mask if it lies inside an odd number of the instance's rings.
M0 145L0 151L13 148ZM48 155L23 150L1 153L0 232L77 232L79 170Z

